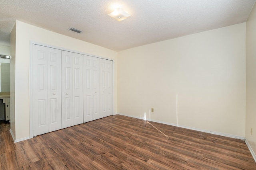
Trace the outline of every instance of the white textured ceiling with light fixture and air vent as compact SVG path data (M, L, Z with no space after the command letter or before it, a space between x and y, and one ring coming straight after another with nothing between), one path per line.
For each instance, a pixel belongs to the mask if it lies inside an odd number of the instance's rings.
M20 20L114 51L245 22L255 0L0 0L0 45ZM116 21L118 6L131 14ZM83 33L67 29L74 27Z

